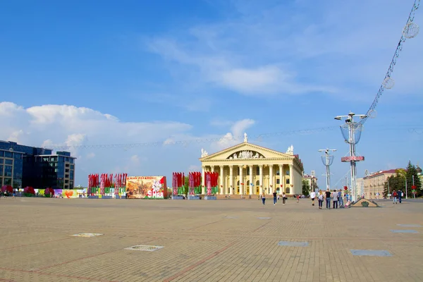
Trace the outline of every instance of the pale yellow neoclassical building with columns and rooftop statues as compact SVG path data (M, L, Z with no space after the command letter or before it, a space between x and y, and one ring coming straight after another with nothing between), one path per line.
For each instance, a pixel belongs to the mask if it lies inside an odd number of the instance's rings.
M205 194L204 173L219 173L220 195L260 195L262 192L288 195L302 194L301 160L293 152L277 152L244 142L214 154L202 149L202 194Z

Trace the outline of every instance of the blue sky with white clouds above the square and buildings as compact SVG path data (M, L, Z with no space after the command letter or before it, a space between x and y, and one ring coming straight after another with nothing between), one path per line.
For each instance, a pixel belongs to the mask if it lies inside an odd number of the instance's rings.
M285 152L317 172L338 149L332 183L348 172L334 116L365 114L413 1L3 1L0 139L28 145L160 142L73 148L77 184L92 172L166 175L241 142ZM415 23L422 25L417 11ZM418 164L423 140L422 35L407 39L357 145L364 169ZM66 105L66 106L65 106ZM292 130L330 130L286 134ZM415 129L414 131L412 129ZM262 133L283 133L265 135ZM215 142L224 137L223 142ZM194 140L185 145L165 140Z

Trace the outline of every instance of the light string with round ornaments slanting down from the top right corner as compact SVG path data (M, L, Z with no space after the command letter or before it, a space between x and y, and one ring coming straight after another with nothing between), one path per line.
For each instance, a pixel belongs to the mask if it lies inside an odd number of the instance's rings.
M393 78L391 77L393 73L393 67L396 65L396 61L400 56L400 52L403 50L403 43L406 39L413 38L419 33L419 26L416 23L413 23L415 18L415 11L419 8L420 0L415 0L412 9L410 11L410 15L408 16L407 23L403 29L403 33L400 38L400 42L396 47L395 53L393 54L393 58L391 60L391 64L389 65L388 71L386 71L386 75L384 80L379 87L379 91L376 93L376 97L374 98L372 105L370 105L369 110L366 113L366 117L360 120L360 123L364 124L367 121L367 118L372 118L376 114L376 106L379 102L379 98L384 93L385 89L391 89L395 84Z

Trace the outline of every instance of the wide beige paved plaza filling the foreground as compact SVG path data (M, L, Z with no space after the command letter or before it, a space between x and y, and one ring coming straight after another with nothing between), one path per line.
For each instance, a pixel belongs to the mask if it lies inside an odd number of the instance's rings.
M423 281L423 203L379 204L1 198L0 281Z

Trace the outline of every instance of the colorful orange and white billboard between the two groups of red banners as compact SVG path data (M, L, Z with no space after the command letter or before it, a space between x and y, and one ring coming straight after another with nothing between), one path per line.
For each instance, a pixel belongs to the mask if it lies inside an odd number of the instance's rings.
M126 195L128 199L166 199L166 176L128 176Z

